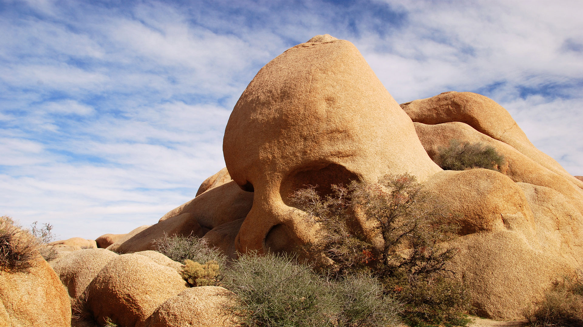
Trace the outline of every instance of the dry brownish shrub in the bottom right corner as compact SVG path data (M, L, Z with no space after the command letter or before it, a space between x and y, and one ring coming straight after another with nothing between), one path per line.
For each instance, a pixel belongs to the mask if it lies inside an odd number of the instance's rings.
M525 316L532 326L583 326L583 273L577 271L554 282Z

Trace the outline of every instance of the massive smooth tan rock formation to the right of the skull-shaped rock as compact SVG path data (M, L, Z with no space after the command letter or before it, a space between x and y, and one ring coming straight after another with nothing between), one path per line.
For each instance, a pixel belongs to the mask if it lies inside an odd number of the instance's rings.
M500 173L444 171L424 183L460 214L452 269L483 317L520 318L558 275L583 264L583 183L536 149L510 114L475 93L447 92L401 105L427 154L451 140L504 155Z

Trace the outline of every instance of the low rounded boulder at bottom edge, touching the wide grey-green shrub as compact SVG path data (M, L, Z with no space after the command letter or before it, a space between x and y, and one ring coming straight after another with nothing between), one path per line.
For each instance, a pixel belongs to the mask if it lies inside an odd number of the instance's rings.
M185 289L161 304L146 319L147 327L237 326L236 317L228 310L234 294L219 286L200 286Z

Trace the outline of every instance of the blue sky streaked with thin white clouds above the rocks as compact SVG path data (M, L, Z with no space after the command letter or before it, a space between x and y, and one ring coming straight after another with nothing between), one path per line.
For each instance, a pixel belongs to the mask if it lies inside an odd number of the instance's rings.
M223 168L235 102L317 34L398 102L473 91L583 175L581 1L1 1L0 214L94 239Z

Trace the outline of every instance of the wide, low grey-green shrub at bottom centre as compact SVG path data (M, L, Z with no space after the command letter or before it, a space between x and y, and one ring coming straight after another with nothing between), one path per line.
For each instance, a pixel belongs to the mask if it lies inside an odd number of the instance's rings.
M398 305L374 278L326 279L285 255L240 255L224 272L244 326L396 325Z

